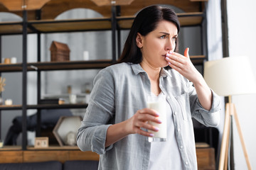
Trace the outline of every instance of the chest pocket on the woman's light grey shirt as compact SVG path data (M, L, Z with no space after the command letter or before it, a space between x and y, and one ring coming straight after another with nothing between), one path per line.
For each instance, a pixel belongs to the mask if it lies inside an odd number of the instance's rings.
M188 120L191 118L190 104L189 104L189 96L187 93L181 94L180 96L175 97L178 101L178 111L181 111L183 120Z

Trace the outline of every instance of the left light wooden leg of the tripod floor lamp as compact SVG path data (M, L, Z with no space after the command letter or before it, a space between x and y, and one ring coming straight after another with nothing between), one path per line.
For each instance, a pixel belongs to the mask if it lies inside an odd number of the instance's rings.
M224 169L224 162L225 162L225 152L226 147L228 146L228 130L230 127L230 103L226 104L226 111L225 111L225 122L224 122L224 130L223 130L223 138L221 141L220 147L220 161L219 161L219 170Z

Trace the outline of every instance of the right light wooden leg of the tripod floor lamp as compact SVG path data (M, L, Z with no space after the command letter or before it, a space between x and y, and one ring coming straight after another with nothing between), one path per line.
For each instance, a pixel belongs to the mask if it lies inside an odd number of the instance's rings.
M242 130L240 128L240 123L239 123L239 120L238 120L238 113L236 112L236 109L235 109L235 105L233 104L233 111L234 111L234 117L235 117L235 124L237 125L237 128L238 128L238 134L239 134L239 137L240 137L240 141L241 141L241 144L242 144L242 150L245 154L245 161L246 161L246 164L247 164L247 168L249 170L252 169L252 166L250 165L250 162L249 162L249 157L248 157L248 154L247 154L247 150L245 148L245 141L243 140L243 137L242 137Z

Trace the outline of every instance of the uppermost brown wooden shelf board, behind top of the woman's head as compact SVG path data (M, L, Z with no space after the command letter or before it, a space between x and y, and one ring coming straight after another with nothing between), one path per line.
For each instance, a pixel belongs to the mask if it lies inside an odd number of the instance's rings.
M181 26L195 26L203 20L202 12L177 13ZM119 28L129 29L135 16L119 16L117 23ZM0 34L21 34L22 22L0 23ZM31 28L31 29L29 29ZM28 21L28 33L61 33L71 31L111 30L111 18L88 18L68 20L36 20Z

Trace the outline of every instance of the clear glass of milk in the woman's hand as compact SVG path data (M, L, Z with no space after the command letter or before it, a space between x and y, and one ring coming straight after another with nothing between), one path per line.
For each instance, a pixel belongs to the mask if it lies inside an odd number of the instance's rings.
M151 94L147 97L147 108L151 108L157 113L159 113L159 120L161 123L154 123L149 121L149 124L154 125L154 127L159 128L159 131L155 132L149 130L149 132L154 134L154 137L149 137L149 142L164 142L167 137L167 126L166 126L166 98L164 95L155 96Z

